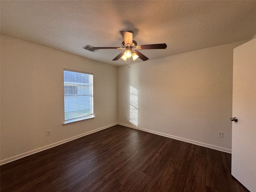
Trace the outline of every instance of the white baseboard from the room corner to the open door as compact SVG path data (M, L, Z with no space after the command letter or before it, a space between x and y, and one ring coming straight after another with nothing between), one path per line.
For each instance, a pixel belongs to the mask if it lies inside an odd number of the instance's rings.
M161 133L161 132L157 132L157 131L152 131L152 130L149 130L149 129L140 128L140 127L124 124L124 123L119 123L118 122L117 124L122 125L122 126L126 126L126 127L130 127L130 128L134 128L134 129L138 129L138 130L141 130L141 131L149 132L149 133L152 133L152 134L156 134L156 135L176 139L176 140L179 140L179 141L184 141L184 142L187 142L187 143L199 145L199 146L202 146L202 147L215 149L215 150L230 153L230 154L232 152L231 149L224 148L224 147L219 147L219 146L215 146L215 145L211 145L211 144L207 144L207 143L202 143L202 142L198 142L198 141L194 141L194 140L190 140L190 139L186 139L186 138L182 138L182 137L177 137L177 136L173 136L173 135L169 135L169 134L165 134L165 133Z

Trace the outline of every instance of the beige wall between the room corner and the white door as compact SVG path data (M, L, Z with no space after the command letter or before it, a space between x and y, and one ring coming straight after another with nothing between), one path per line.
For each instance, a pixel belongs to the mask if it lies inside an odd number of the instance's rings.
M231 152L233 49L243 42L118 67L118 122Z

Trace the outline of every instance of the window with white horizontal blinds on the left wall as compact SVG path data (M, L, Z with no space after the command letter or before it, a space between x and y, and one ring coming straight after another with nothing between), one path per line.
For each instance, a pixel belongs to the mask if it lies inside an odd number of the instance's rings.
M65 123L94 118L93 75L64 69Z

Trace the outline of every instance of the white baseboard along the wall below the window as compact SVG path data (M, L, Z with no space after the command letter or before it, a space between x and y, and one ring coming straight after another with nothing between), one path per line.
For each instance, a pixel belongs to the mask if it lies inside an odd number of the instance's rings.
M106 129L106 128L115 126L115 125L117 125L117 124L118 124L118 123L113 123L113 124L110 124L110 125L108 125L108 126L104 126L104 127L101 127L101 128L98 128L98 129L95 129L95 130L92 130L92 131L89 131L89 132L86 132L86 133L83 133L83 134L80 134L80 135L77 135L77 136L74 136L74 137L70 137L70 138L68 138L68 139L65 139L65 140L62 140L62 141L58 141L58 142L56 142L56 143L52 143L52 144L47 145L47 146L44 146L44 147L40 147L40 148L31 150L31 151L28 151L28 152L25 152L25 153L22 153L22 154L19 154L19 155L10 157L10 158L3 159L3 160L0 161L0 165L6 164L6 163L10 163L10 162L12 162L12 161L15 161L15 160L24 158L24 157L26 157L26 156L29 156L29 155L32 155L32 154L41 152L41 151L43 151L43 150L56 147L56 146L58 146L58 145L64 144L64 143L66 143L66 142L70 142L70 141L72 141L72 140L78 139L78 138L80 138L80 137L83 137L83 136L86 136L86 135L89 135L89 134L92 134L92 133L95 133L95 132L98 132L98 131L101 131L101 130L104 130L104 129Z

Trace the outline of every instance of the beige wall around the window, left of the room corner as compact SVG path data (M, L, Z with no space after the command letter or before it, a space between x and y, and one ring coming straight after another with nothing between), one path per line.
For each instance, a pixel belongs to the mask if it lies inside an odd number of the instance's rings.
M95 119L62 125L63 68L94 74ZM115 124L116 101L115 66L1 35L2 163Z

